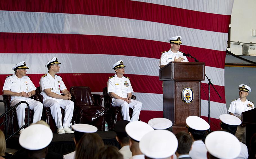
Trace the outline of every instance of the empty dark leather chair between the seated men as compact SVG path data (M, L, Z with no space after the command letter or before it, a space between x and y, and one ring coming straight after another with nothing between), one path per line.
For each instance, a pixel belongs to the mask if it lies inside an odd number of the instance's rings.
M105 128L103 97L100 94L91 94L91 88L73 86L70 88L71 100L75 103L73 123L94 125L98 130Z

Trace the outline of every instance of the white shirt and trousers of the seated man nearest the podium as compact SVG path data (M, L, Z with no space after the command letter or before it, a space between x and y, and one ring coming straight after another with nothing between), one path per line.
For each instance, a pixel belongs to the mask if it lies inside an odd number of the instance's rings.
M131 82L129 78L122 76L122 78L118 78L116 74L114 76L109 77L107 82L107 91L113 92L119 97L127 98L127 93L132 93L133 88L131 86ZM112 99L112 106L121 107L123 120L128 121L138 121L140 116L140 110L142 108L142 102L131 99L131 103L127 103L122 99ZM133 115L130 119L129 116L129 107L133 108Z

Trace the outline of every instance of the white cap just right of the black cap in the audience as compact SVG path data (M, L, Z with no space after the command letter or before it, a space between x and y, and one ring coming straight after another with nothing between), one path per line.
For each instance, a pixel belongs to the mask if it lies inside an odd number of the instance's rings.
M133 121L125 126L125 131L131 139L140 142L142 136L154 129L143 121Z

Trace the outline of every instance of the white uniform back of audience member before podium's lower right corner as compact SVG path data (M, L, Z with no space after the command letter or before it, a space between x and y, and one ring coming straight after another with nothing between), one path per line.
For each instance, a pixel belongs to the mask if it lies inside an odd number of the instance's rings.
M189 151L189 156L196 159L207 159L207 149L201 140L192 143L192 149Z

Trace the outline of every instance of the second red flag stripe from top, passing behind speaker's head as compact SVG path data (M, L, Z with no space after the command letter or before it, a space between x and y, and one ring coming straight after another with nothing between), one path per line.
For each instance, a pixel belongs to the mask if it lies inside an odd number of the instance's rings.
M84 53L160 59L161 52L169 49L170 44L165 42L114 36L0 33L0 53ZM181 46L181 51L190 53L206 66L225 67L224 51L185 45ZM192 58L188 60L194 62Z

